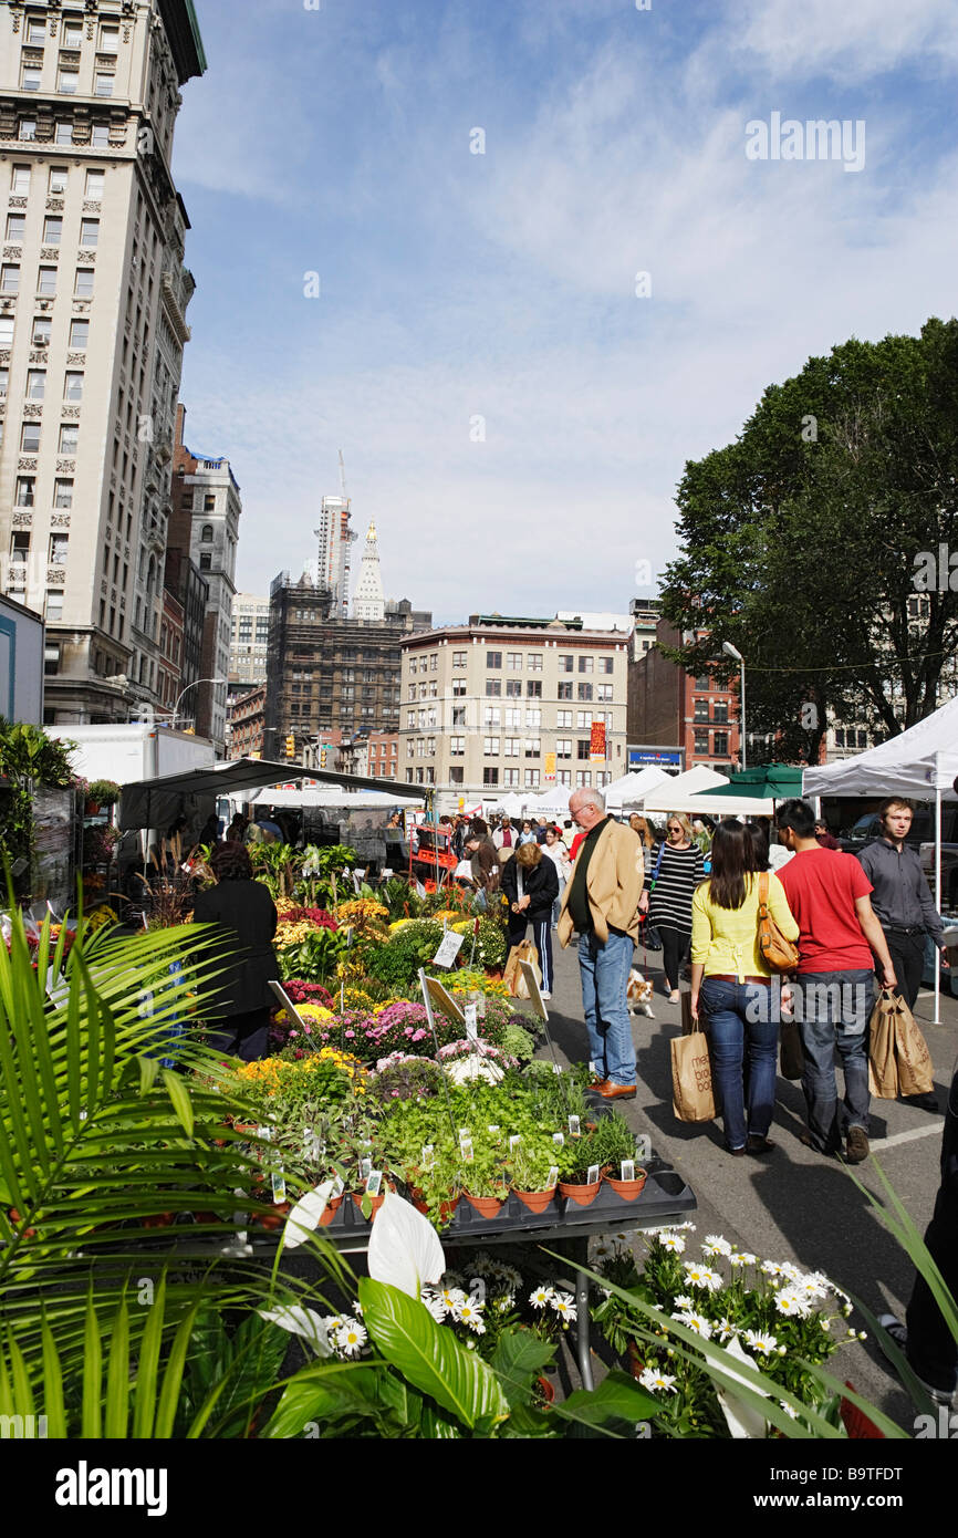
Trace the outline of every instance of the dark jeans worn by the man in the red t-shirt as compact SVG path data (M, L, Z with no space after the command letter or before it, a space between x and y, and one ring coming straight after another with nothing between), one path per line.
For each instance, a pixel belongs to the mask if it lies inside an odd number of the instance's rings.
M806 1067L801 1077L809 1132L820 1154L841 1147L844 1129L869 1130L869 1017L873 972L801 972L798 1029ZM844 1070L844 1117L838 1104L835 1049Z

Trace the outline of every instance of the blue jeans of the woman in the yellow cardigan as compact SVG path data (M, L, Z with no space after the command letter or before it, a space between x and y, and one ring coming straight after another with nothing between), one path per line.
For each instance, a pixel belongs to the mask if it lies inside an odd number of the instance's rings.
M700 1007L709 1020L712 1080L721 1097L726 1147L746 1146L743 1064L749 1057L747 1137L764 1138L775 1110L778 1020L770 1018L770 989L763 983L721 983L707 977ZM766 998L769 1003L766 1004ZM763 1006L763 1007L757 1007ZM749 1007L750 1006L750 1007Z

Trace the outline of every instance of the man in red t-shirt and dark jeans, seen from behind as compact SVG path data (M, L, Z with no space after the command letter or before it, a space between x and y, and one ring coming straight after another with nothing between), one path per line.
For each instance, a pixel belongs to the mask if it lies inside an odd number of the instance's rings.
M804 1047L801 1087L809 1114L803 1143L820 1154L841 1147L846 1160L869 1157L869 1017L875 1000L873 958L883 983L895 987L895 967L872 910L872 883L853 855L823 849L807 801L778 807L780 843L795 855L778 871L798 921L798 995L795 1015ZM835 1047L844 1070L844 1118L835 1083Z

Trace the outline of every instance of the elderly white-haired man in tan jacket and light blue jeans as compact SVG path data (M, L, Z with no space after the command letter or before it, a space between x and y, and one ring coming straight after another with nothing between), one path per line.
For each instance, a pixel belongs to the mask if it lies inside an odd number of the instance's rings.
M589 1057L606 1100L635 1098L635 1046L626 987L638 938L644 861L638 835L606 815L598 791L575 791L569 812L584 832L558 917L564 947L578 934Z

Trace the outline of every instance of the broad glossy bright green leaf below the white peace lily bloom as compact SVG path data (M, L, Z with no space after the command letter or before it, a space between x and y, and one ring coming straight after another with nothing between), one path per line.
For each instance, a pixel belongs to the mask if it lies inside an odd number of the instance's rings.
M384 1281L360 1278L363 1321L386 1361L474 1430L509 1415L509 1401L486 1363L452 1330L437 1324L429 1309Z

